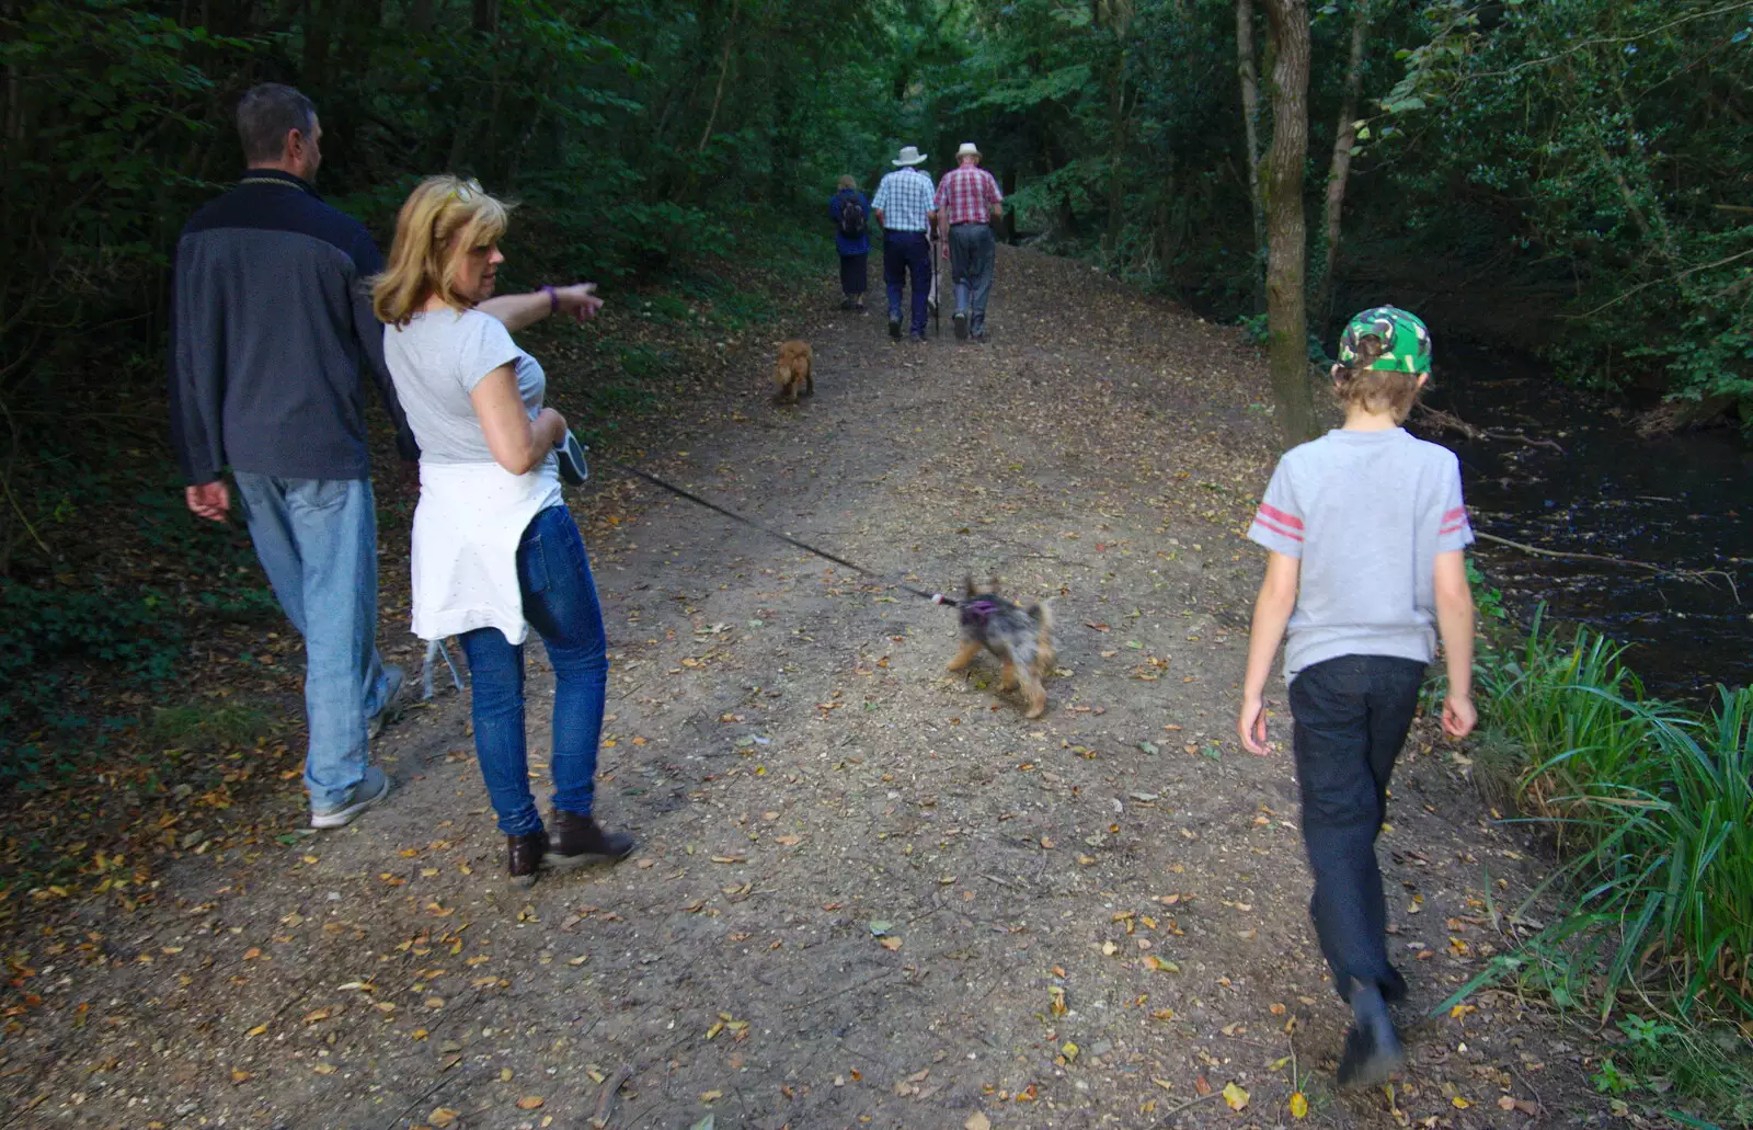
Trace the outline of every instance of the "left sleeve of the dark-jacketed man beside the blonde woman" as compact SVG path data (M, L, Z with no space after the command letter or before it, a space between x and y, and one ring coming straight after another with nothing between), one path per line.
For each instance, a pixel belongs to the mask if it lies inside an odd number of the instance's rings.
M219 293L202 286L177 242L170 274L170 446L191 486L224 470L224 321Z

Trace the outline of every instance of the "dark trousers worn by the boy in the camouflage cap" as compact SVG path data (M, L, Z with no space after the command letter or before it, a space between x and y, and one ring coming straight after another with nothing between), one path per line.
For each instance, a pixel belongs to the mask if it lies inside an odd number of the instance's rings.
M1334 988L1346 1000L1352 977L1380 984L1388 998L1406 991L1388 965L1376 835L1423 669L1416 660L1346 654L1304 667L1290 683L1302 846L1315 872L1309 918Z

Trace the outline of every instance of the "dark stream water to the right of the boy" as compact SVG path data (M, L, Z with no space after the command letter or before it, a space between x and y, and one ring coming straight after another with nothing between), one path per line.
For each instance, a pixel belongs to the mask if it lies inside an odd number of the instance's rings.
M1693 581L1481 540L1474 558L1523 625L1544 602L1550 618L1630 644L1627 663L1664 698L1707 702L1716 683L1753 679L1753 449L1735 432L1646 440L1611 404L1483 347L1444 346L1425 400L1478 428L1562 447L1469 440L1415 418L1413 432L1460 456L1476 532L1723 574Z

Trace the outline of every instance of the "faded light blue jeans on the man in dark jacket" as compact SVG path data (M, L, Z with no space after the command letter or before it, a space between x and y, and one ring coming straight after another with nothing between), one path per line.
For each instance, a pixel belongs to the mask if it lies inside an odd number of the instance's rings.
M366 718L384 705L377 656L377 504L370 479L235 472L256 558L305 637L305 788L312 809L345 804L365 776Z

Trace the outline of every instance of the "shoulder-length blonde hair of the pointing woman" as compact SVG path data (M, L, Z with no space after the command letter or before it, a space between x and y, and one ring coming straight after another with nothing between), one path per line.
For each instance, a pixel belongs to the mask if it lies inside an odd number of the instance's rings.
M433 295L459 311L472 307L456 293L458 253L505 235L512 207L482 191L479 181L452 175L421 181L396 212L389 265L372 279L377 319L405 326Z

